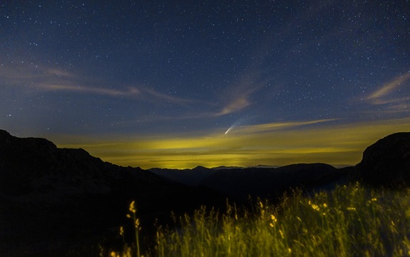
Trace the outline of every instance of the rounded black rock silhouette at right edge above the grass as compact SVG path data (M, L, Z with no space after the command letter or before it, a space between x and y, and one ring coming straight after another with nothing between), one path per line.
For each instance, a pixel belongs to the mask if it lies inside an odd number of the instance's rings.
M364 150L357 178L371 186L410 186L410 132L394 133Z

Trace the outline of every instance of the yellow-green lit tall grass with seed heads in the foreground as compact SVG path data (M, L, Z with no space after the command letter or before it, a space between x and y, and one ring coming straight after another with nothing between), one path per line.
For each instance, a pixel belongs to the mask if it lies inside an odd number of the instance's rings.
M145 256L410 256L410 190L357 183L255 205L228 206L222 215L203 207L175 218L175 228L158 228L155 249Z

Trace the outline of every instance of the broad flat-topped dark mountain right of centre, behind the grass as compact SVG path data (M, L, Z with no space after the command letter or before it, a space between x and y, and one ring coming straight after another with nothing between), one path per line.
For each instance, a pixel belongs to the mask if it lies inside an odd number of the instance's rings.
M280 168L222 169L201 184L239 200L248 196L277 199L289 188L318 188L345 176L347 173L324 163L299 163Z

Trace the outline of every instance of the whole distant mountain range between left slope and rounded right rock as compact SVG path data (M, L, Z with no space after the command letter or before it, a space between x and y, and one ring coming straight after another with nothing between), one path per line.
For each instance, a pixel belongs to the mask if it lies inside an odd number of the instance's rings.
M241 201L248 196L278 198L289 188L324 188L346 183L354 168L325 163L299 163L278 168L150 168L149 171L190 186L205 186Z

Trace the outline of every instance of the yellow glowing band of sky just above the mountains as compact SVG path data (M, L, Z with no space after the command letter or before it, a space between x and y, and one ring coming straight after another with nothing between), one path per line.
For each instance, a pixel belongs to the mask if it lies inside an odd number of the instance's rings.
M113 136L111 139L58 137L60 148L84 148L103 161L140 168L194 168L205 166L284 166L292 163L328 163L354 166L367 146L384 136L409 131L410 119L357 124L294 121L225 129L198 136ZM300 129L300 126L305 126ZM72 141L73 143L64 143Z

